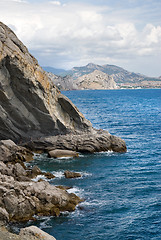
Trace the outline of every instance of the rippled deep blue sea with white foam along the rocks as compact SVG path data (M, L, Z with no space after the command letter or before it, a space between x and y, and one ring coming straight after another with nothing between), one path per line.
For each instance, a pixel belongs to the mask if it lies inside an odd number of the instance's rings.
M43 217L36 225L57 240L161 239L161 89L63 94L94 127L122 137L128 151L63 160L36 154L32 164L56 175L51 184L70 186L85 200L75 212ZM65 179L65 170L83 176Z

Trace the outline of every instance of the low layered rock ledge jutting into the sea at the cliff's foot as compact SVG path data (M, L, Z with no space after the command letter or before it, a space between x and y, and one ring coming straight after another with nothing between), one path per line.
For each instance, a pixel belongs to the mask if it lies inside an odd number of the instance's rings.
M93 134L66 134L60 136L49 136L25 143L32 150L52 151L54 149L68 149L76 152L101 152L114 151L126 152L125 142L104 130L95 130Z

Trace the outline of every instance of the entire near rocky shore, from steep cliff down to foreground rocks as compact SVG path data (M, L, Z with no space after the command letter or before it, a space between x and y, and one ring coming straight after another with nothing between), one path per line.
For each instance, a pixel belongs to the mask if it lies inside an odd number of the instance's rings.
M59 216L82 201L62 187L33 182L42 174L26 167L33 151L126 152L119 137L96 130L53 85L14 32L0 22L0 221L24 222ZM43 173L44 174L44 173ZM45 173L47 178L54 178ZM2 236L6 229L1 228ZM54 239L34 227L10 239Z

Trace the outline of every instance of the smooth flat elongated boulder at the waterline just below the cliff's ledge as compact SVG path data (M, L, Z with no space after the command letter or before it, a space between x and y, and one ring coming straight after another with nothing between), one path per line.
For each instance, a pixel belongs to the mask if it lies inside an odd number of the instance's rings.
M53 158L78 157L79 153L71 150L55 149L55 150L49 151L48 156Z

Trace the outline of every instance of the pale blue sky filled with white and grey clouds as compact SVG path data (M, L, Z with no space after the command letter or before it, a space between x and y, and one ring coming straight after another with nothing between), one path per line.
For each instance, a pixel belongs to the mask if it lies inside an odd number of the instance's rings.
M161 0L0 0L41 66L114 64L161 76Z

